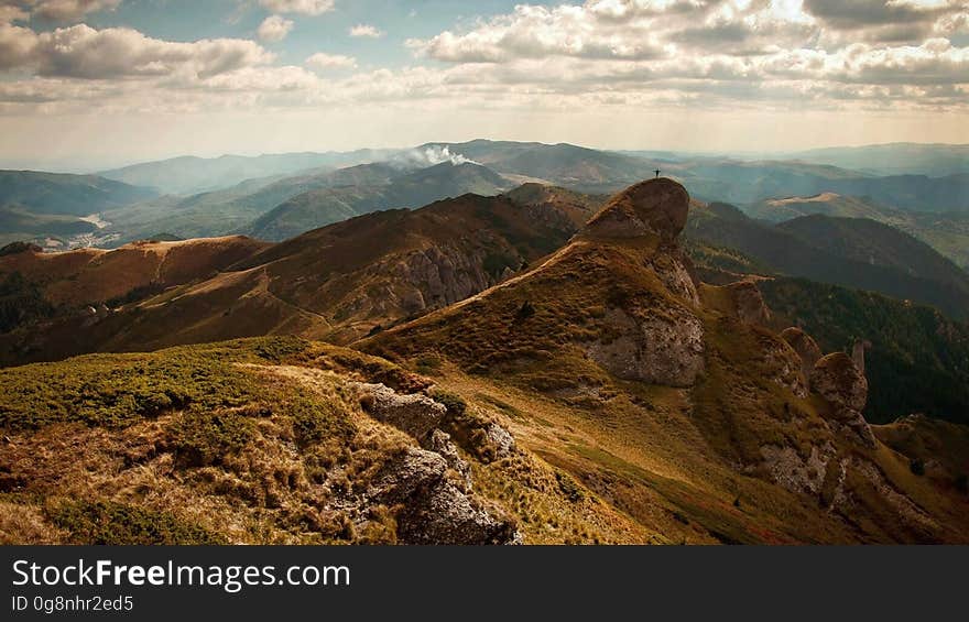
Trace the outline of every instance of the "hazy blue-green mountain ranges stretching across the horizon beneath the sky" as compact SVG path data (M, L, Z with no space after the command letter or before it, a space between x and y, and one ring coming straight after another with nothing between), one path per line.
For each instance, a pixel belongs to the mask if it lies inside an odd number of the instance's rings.
M475 140L406 150L179 157L106 172L112 179L3 172L0 243L111 248L161 233L183 239L244 233L277 241L373 210L415 208L465 193L494 195L521 183L605 195L658 168L708 203L737 205L775 222L815 212L872 218L969 265L969 174L959 163L965 149L916 146L745 161ZM872 161L884 154L884 162L899 166L906 162L900 154L908 153L912 167L879 176L871 166L854 166L846 153ZM828 154L852 167L825 163ZM933 162L940 163L937 172L918 173ZM895 164L889 167L893 172ZM207 189L196 192L200 188Z

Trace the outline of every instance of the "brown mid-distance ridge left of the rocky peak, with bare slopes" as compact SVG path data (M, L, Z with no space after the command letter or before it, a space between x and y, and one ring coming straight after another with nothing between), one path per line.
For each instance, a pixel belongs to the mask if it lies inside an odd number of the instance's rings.
M0 257L0 283L20 274L25 281L11 293L17 305L32 301L53 320L8 335L0 349L43 360L274 331L349 341L484 290L565 243L591 212L567 190L465 195L351 218L269 248L231 237L108 252L15 249ZM177 283L137 276L161 274L166 253L193 270L179 269ZM118 274L110 277L105 265ZM97 286L84 285L89 279ZM122 312L99 321L76 313L109 299L120 301Z

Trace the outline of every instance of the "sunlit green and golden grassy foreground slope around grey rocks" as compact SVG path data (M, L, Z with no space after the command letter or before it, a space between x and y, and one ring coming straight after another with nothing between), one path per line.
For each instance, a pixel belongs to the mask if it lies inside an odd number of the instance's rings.
M10 437L0 451L0 543L396 539L401 506L357 514L340 501L414 445L368 417L351 384L426 384L386 361L262 338L0 377L0 430ZM462 425L473 430L493 410L471 404ZM488 503L527 542L653 537L532 455L471 461Z

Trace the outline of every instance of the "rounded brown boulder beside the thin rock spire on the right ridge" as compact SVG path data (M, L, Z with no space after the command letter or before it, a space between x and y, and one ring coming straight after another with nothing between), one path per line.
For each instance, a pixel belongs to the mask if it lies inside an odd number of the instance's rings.
M868 381L851 357L835 352L820 359L812 371L810 385L830 405L837 427L867 447L875 446L874 434L861 414L868 402Z

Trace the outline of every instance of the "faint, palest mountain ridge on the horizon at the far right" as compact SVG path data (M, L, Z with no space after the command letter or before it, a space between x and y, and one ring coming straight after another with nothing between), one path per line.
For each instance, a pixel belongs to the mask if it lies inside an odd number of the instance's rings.
M969 145L889 143L865 146L816 149L787 157L832 164L875 175L929 175L943 177L969 173Z

